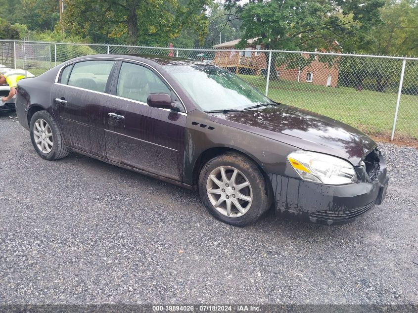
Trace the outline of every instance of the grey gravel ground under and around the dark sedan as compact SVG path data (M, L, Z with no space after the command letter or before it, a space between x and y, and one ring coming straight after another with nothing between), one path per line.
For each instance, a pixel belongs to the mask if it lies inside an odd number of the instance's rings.
M197 194L79 154L48 162L0 113L0 303L418 302L418 150L381 144L383 205L343 226L236 228Z

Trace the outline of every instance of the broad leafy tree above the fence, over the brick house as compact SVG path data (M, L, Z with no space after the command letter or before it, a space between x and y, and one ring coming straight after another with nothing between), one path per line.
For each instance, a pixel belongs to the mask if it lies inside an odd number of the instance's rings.
M366 39L365 34L380 23L383 5L384 0L249 0L242 5L226 1L243 22L241 46L259 38L268 48L289 50L328 49L334 41L345 51L355 50L360 43L353 43L353 38Z

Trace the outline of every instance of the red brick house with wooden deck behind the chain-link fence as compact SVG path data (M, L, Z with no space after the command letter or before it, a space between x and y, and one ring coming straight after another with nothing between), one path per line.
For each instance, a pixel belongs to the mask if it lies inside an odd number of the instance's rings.
M238 44L239 39L214 45L215 52L213 64L227 68L236 74L261 75L262 69L267 69L268 57L263 50L264 45L254 45L255 39L247 41L245 50L230 51ZM308 54L302 54L302 57L309 58ZM307 66L303 68L286 69L286 64L276 66L276 74L282 80L304 82L314 85L336 87L338 81L338 64L334 62L331 66L327 63L318 61L318 56Z

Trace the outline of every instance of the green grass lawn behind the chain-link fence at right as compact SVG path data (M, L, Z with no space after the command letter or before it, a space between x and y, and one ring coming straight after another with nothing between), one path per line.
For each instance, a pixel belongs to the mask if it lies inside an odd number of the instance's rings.
M263 77L239 76L265 92L266 81ZM279 80L270 82L269 97L280 103L329 116L366 134L389 138L397 94ZM401 95L395 137L399 140L418 140L418 96Z

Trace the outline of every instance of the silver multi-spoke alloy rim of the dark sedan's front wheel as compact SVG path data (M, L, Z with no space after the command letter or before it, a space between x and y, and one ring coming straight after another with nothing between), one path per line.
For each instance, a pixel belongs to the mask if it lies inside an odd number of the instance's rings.
M232 166L214 169L206 182L206 191L213 207L230 218L243 216L253 201L249 180Z

